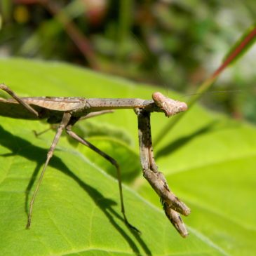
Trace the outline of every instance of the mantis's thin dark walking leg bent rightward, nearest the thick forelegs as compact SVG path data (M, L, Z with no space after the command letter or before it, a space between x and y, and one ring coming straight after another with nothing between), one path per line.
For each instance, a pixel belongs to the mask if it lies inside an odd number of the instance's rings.
M113 159L111 156L105 154L103 151L95 147L93 144L88 142L87 140L84 140L82 137L77 135L76 133L72 132L72 126L78 121L77 119L72 119L69 124L66 127L66 132L67 134L72 137L74 140L77 140L81 144L85 145L86 147L89 147L90 149L93 149L97 154L100 156L104 157L109 163L112 163L112 165L116 168L116 175L117 175L117 180L119 182L119 195L120 195L120 201L121 201L121 213L123 213L123 219L126 225L130 227L131 229L137 231L139 234L141 234L140 230L138 230L136 227L134 227L132 224L128 222L128 219L126 217L126 212L124 208L124 203L123 203L123 189L122 189L122 181L121 181L121 171L119 168L119 164L116 162L115 159Z

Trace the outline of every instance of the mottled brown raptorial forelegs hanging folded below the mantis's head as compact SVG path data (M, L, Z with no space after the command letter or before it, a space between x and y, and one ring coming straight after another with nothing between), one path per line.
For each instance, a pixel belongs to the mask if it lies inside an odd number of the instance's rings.
M179 213L187 216L190 213L190 209L170 191L163 173L158 171L152 149L150 113L142 109L135 109L135 113L138 119L140 162L143 175L159 195L163 210L170 222L182 237L186 237L189 233Z

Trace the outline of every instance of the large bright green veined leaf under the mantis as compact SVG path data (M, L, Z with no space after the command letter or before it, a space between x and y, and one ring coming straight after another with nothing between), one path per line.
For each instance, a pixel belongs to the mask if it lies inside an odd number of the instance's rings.
M156 90L59 62L0 60L0 77L20 96L150 99ZM163 114L152 114L153 140L166 121ZM77 132L121 165L126 214L141 236L123 223L113 167L65 136L50 160L32 227L26 230L35 180L55 132L35 137L32 130L48 128L39 121L0 117L0 123L1 255L255 254L255 127L195 106L156 148L159 170L191 207L191 215L183 218L190 233L184 239L140 172L133 111L83 121ZM98 133L86 133L86 123Z

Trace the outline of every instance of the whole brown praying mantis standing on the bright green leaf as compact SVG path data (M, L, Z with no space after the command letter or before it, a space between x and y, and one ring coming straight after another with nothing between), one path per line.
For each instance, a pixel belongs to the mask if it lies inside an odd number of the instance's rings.
M86 99L85 97L18 97L13 90L4 84L0 84L0 89L6 91L6 93L13 97L7 100L0 97L1 116L29 120L47 119L50 124L59 124L57 133L55 134L50 149L48 150L46 162L44 163L43 170L41 171L41 175L30 202L27 229L29 229L31 225L34 201L43 179L43 174L45 173L46 167L53 156L53 152L58 144L62 131L66 130L67 134L74 138L74 140L77 140L86 147L93 149L93 151L100 154L100 156L103 156L116 168L123 220L130 229L140 233L136 227L133 227L133 225L128 222L126 217L123 203L121 171L118 163L111 156L108 156L100 149L97 149L93 144L90 144L90 142L84 140L72 131L74 124L81 119L105 114L106 112L112 112L112 109L133 109L135 114L137 114L138 120L140 162L142 164L143 175L159 195L161 203L163 204L163 210L175 229L177 229L183 237L186 237L189 234L182 222L180 214L187 216L190 213L190 209L180 201L172 191L170 191L163 173L159 172L156 166L150 128L151 112L163 112L166 116L170 117L179 112L184 112L187 109L186 103L172 100L161 93L153 93L153 100L142 100L137 98Z

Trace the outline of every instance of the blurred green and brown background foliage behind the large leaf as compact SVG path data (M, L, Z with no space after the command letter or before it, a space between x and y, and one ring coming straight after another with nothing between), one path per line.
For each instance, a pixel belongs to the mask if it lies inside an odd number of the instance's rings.
M0 56L65 60L162 84L182 93L211 74L255 22L256 2L200 0L2 0ZM203 97L209 107L256 122L256 48Z

